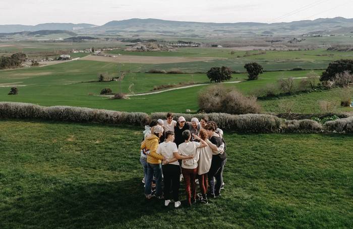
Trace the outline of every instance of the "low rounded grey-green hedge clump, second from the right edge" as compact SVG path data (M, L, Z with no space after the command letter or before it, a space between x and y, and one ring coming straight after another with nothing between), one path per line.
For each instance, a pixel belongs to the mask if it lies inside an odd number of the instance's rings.
M285 121L285 132L321 132L322 125L314 120L289 120Z

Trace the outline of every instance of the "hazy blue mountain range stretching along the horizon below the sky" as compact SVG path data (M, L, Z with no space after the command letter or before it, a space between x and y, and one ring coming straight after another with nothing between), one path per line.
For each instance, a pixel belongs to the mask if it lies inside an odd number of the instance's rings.
M353 32L353 19L342 17L319 18L316 20L294 21L288 23L203 23L167 21L160 19L133 18L122 21L110 21L102 26L92 24L46 23L36 26L0 25L0 33L36 31L36 30L70 30L78 34L121 34L153 33L166 36L188 35L198 37L207 34L306 34L315 32ZM351 30L351 31L350 31Z

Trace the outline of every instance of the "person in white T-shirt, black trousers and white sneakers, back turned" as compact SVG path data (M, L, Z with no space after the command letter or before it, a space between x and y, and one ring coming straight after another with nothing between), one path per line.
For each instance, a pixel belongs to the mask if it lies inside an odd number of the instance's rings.
M180 165L178 159L191 159L194 156L181 156L178 153L177 145L174 141L174 133L171 131L165 132L165 141L160 143L157 153L166 158L163 161L162 172L164 178L164 205L168 206L171 202L170 198L170 185L173 191L174 207L177 208L181 205L179 201L179 187L180 187Z

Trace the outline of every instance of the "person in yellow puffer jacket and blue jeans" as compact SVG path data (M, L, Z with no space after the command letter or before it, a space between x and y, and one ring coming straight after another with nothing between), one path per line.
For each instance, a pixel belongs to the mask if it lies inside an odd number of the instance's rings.
M153 176L156 179L156 196L162 199L162 171L160 167L161 160L165 160L163 155L157 153L159 138L163 134L161 126L154 126L151 128L151 134L147 136L141 144L141 149L146 148L147 154L147 178L145 183L145 195L147 199L151 199L151 183Z

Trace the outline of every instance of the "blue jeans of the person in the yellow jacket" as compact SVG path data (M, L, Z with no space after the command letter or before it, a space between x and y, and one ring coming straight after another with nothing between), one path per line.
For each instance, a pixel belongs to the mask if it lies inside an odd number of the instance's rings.
M147 178L145 182L145 194L151 194L151 183L153 176L156 179L156 195L162 195L162 169L159 164L147 162Z

